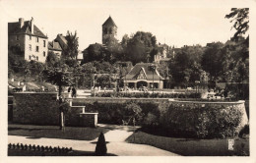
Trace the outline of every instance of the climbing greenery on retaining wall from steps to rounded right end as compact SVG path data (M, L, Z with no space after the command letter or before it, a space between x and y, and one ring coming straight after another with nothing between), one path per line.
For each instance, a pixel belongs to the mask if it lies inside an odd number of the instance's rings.
M86 111L98 112L98 123L121 125L122 120L132 116L127 105L136 103L86 103ZM193 104L175 102L138 102L141 108L136 125L144 128L162 129L167 136L224 138L238 136L242 111L232 104ZM135 106L136 106L135 105ZM130 123L132 125L132 123Z

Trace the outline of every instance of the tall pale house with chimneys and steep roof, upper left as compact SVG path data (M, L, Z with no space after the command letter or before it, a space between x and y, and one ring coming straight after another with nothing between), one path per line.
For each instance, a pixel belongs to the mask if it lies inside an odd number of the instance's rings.
M8 23L8 48L19 47L27 61L45 62L48 54L48 37L31 21Z

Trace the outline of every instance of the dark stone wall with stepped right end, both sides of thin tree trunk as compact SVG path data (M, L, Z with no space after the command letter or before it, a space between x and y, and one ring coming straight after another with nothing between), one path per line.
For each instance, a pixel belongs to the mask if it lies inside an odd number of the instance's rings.
M19 92L14 93L13 111L9 108L9 115L13 115L13 122L32 125L59 125L59 106L57 93L47 92ZM85 114L83 107L72 107L65 115L66 126L91 126L96 124L97 114Z

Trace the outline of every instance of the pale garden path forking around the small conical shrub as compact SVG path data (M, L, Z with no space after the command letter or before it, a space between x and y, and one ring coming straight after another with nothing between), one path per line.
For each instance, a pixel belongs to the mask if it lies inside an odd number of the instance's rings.
M160 148L145 145L127 143L125 139L131 136L133 132L139 127L127 127L116 125L98 126L110 129L104 134L107 142L107 153L112 153L119 156L177 156L177 154L162 150ZM77 139L59 139L59 138L45 138L45 137L28 137L28 136L8 136L8 143L23 143L23 144L39 144L44 146L60 146L72 147L74 150L95 151L96 141L94 140L77 140Z

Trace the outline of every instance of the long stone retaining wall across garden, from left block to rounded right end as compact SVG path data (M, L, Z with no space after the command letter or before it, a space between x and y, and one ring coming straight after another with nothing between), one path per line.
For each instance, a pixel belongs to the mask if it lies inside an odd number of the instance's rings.
M56 97L57 93L14 93L13 122L58 125L59 110ZM143 117L137 125L144 125L147 122L148 125L160 125L171 131L180 132L180 129L184 129L182 132L198 132L199 128L204 128L206 130L204 132L214 133L216 131L211 125L216 125L216 130L219 130L222 128L220 124L227 122L227 126L231 125L231 130L235 129L237 132L248 122L244 101L177 101L166 98L73 98L72 100L73 106L86 106L86 112L97 112L98 123L121 125L122 119L126 116L124 108L130 102L138 103L142 108ZM81 126L86 122L81 117L88 117L88 115L81 116L85 111L82 107L72 107L66 115L66 125ZM229 130L229 127L226 130Z

